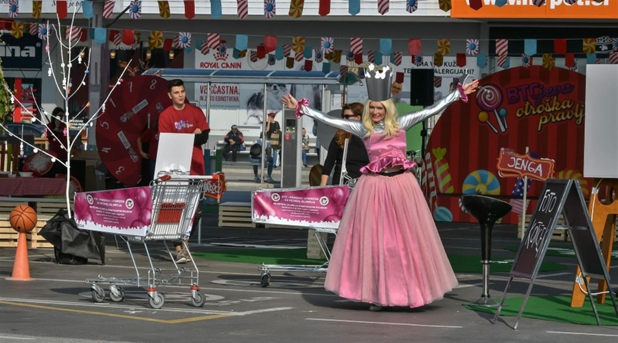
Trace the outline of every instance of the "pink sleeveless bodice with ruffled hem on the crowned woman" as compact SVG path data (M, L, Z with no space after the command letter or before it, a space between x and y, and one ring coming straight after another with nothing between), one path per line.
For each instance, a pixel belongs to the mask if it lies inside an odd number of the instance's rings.
M363 139L369 156L369 164L361 168L361 173L379 173L393 167L412 169L416 163L406 156L406 132L400 131L398 136L389 138L380 133L371 134Z

